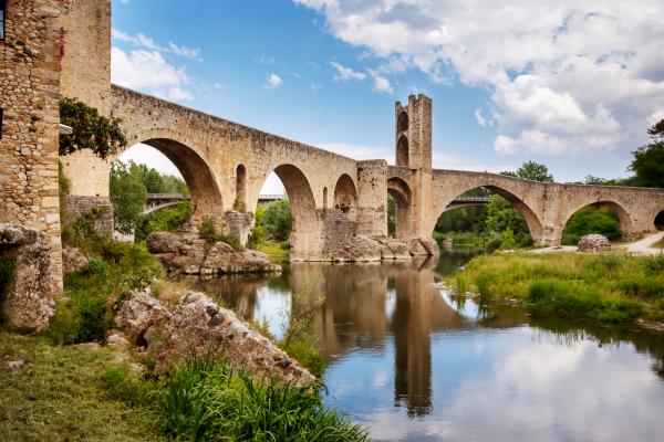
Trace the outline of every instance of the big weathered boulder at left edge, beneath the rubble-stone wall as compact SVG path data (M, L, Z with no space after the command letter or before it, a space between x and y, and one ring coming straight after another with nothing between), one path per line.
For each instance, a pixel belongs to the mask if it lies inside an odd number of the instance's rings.
M20 225L0 224L0 257L15 261L4 305L9 325L45 328L55 313L46 235Z

